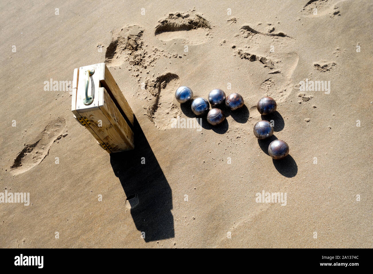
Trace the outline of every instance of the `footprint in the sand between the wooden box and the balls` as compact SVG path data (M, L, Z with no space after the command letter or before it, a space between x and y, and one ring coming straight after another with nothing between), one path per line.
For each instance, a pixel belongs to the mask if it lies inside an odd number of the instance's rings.
M171 119L181 114L178 105L174 103L175 91L179 85L179 76L174 73L166 73L145 81L144 96L148 104L144 105L144 108L149 119L159 129L169 128Z

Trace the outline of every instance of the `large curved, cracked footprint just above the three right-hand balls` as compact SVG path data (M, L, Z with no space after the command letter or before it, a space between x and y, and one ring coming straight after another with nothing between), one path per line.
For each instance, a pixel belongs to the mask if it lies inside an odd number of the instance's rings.
M258 29L242 26L235 35L238 46L234 49L241 59L259 62L268 69L266 79L258 88L263 95L281 102L294 88L291 76L298 65L298 54L292 51L295 39L276 30L272 23L259 24Z

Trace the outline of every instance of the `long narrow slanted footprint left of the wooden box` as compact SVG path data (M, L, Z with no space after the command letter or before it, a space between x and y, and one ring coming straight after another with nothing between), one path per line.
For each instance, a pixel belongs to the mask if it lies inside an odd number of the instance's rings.
M64 130L64 119L51 121L31 143L26 144L18 153L10 171L14 175L18 175L40 164L47 157L53 142L67 135L67 133L62 135Z

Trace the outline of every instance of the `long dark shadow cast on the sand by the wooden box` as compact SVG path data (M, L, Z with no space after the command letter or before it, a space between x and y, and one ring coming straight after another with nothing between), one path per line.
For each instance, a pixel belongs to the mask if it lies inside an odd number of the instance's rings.
M113 171L145 242L173 238L172 190L136 118L134 137L133 150L110 154Z

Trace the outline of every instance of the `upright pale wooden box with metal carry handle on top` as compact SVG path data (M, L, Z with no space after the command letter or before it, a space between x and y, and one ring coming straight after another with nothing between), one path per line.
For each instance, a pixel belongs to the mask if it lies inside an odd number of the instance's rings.
M71 111L107 152L134 148L134 113L105 63L74 70Z

